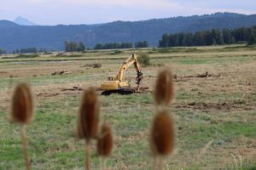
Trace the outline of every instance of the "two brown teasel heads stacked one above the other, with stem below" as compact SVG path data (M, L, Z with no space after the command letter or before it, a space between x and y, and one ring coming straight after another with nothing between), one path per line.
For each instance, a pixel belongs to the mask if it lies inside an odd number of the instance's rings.
M160 71L154 89L154 99L157 114L154 116L150 133L150 145L154 155L153 169L162 169L164 156L168 156L174 149L174 127L168 106L173 98L172 72L165 68ZM159 163L156 161L159 159Z

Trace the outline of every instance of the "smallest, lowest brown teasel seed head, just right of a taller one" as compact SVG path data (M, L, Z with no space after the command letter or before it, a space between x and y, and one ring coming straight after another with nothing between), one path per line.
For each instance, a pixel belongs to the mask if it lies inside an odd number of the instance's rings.
M110 126L102 125L101 133L97 140L97 153L99 156L109 156L113 149L113 135Z

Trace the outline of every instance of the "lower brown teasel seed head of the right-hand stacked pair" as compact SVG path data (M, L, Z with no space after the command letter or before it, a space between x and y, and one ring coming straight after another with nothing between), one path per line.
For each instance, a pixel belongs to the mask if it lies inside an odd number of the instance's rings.
M172 118L166 111L160 111L154 116L150 140L155 156L167 156L172 153L174 128Z

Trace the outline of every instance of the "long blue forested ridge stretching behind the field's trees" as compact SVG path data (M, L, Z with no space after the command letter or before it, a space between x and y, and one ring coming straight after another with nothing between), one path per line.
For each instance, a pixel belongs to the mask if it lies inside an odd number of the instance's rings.
M64 48L64 41L81 41L94 47L97 42L148 41L157 46L164 33L195 32L212 28L256 25L256 14L216 13L142 21L114 21L99 25L20 26L0 20L0 48Z

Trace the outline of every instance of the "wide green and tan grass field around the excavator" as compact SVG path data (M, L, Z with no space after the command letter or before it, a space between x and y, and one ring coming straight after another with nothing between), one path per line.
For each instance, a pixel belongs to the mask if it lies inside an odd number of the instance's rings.
M171 108L176 147L166 169L255 169L256 47L243 45L0 56L0 169L25 169L19 128L9 123L18 82L30 82L36 100L34 121L27 127L32 169L84 169L84 142L74 138L82 92L62 89L99 87L132 53L142 52L152 64L143 68L143 86L153 90L164 65L177 75ZM94 63L102 67L93 68ZM132 67L125 76L134 82ZM55 71L67 74L52 76ZM212 77L196 77L206 71ZM113 94L100 101L102 120L114 131L108 169L151 169L153 95ZM98 169L95 151L92 161Z

